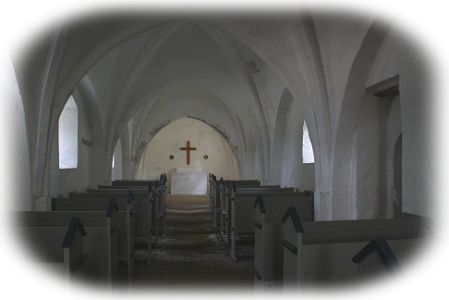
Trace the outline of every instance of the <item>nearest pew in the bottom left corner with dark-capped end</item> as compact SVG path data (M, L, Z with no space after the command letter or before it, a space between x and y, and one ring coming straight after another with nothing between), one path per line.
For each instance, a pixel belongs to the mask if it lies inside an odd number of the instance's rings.
M41 231L46 231L44 228ZM26 232L26 229L25 229ZM26 235L26 234L25 234ZM57 262L2 262L0 263L0 291L4 299L82 300L84 299L83 236L86 235L79 219L72 218L66 229L62 248L63 260ZM3 247L15 242L2 240ZM9 244L9 245L8 245ZM41 246L45 252L52 245ZM5 250L5 249L4 249ZM49 255L54 253L49 252ZM0 259L4 258L0 256ZM48 257L50 258L50 256ZM8 257L9 259L9 257Z

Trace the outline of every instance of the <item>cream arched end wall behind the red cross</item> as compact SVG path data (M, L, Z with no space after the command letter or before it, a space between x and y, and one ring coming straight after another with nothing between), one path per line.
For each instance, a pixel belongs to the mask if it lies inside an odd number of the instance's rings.
M190 165L187 165L187 151L190 151ZM170 155L174 156L171 160ZM208 155L208 159L204 159ZM213 173L218 179L240 179L239 166L225 139L209 125L194 119L180 119L159 131L142 155L136 179L159 179L167 174L168 192L171 191L171 173L176 168L192 168Z

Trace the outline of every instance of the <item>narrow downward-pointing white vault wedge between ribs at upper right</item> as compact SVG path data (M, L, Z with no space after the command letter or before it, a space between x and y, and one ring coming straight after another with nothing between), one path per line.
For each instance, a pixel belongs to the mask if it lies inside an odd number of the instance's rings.
M352 62L384 2L309 1L326 76L332 126L338 124L339 110Z

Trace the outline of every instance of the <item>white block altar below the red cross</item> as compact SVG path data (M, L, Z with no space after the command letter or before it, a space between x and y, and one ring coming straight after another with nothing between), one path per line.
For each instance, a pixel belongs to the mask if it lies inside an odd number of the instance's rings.
M171 173L172 195L206 195L207 172L197 168L177 168Z

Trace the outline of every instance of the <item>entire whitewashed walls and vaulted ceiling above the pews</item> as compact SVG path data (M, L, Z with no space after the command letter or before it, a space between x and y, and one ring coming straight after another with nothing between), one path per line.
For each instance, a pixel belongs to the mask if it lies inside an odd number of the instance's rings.
M448 29L443 0L2 0L0 212L206 172L448 237Z

